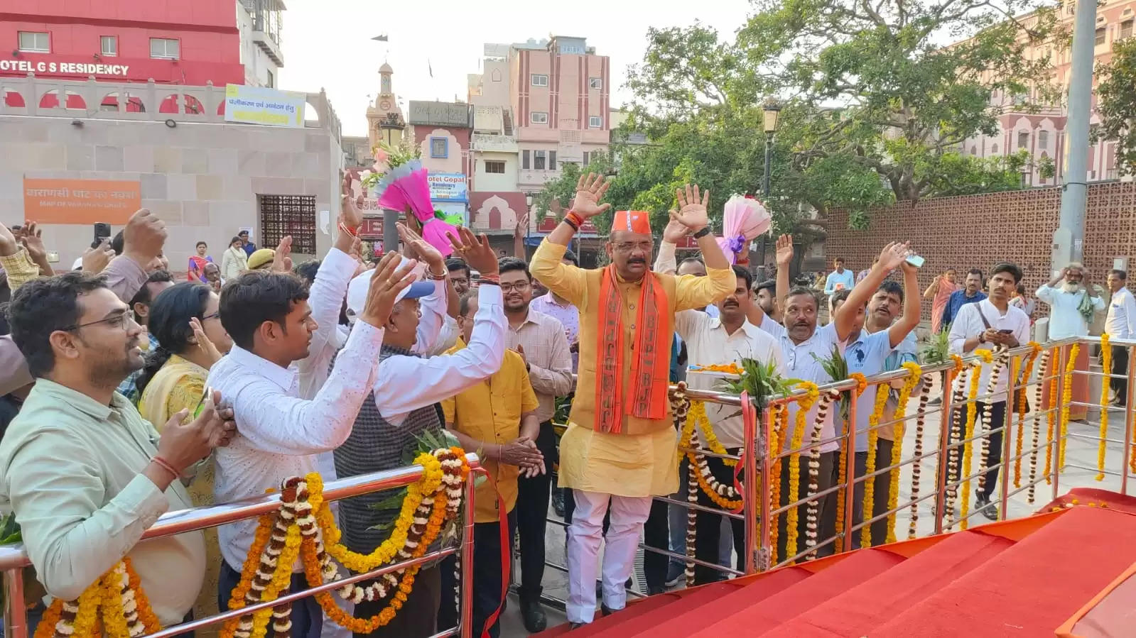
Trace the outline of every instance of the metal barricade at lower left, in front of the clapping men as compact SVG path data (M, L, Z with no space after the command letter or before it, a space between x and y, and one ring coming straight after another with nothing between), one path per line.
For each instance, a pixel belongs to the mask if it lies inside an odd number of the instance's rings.
M274 607L276 605L306 598L318 593L337 589L344 585L371 580L378 576L399 569L437 561L453 554L460 554L461 582L457 584L460 591L458 624L456 627L441 630L431 638L441 638L443 636L461 636L462 638L469 638L474 635L474 628L471 627L473 607L470 605L470 593L474 577L474 479L477 475L484 473L485 470L481 467L476 454L466 454L466 460L469 463L470 473L463 488L463 518L461 522L461 540L458 546L442 547L437 551L428 552L417 559L392 562L365 573L358 573L341 580L326 582L319 587L312 587L302 591L282 595L274 601L251 604L240 610L222 611L217 615L183 622L151 633L150 636L154 638L177 636L179 633L201 629L214 623L239 618L258 610ZM415 482L421 478L421 465L408 465L394 470L328 481L324 486L324 500L339 501L374 492L395 489ZM207 529L210 527L260 517L275 511L279 507L279 494L270 494L266 496L245 498L234 503L207 505L202 507L193 507L191 510L168 512L159 518L158 521L142 535L142 540ZM27 553L25 552L23 545L0 546L0 570L3 571L5 588L3 628L6 638L27 638L28 636L30 628L27 627L27 605L24 594L23 570L30 566L31 562L27 559Z

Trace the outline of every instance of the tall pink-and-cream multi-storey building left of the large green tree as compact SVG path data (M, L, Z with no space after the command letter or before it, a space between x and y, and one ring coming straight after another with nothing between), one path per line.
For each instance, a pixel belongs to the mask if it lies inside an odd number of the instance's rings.
M565 162L607 151L610 95L611 60L584 37L486 44L482 73L469 75L474 225L511 232L526 194Z

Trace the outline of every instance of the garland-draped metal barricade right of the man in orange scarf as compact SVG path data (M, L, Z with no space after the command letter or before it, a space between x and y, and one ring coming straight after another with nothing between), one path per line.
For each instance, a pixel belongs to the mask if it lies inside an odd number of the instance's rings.
M857 429L861 434L864 433L862 426L861 428L844 427L835 436L817 442L812 442L805 436L802 445L796 448L791 450L788 446L782 445L779 450L770 451L769 436L778 429L776 419L779 410L791 403L799 402L805 393L797 391L786 396L770 398L766 405L760 406L759 422L752 423L753 430L751 430L755 431L755 436L745 440L741 456L717 454L704 448L698 450L698 453L704 456L741 459L745 464L742 480L743 507L740 513L666 496L655 497L655 501L665 502L668 505L744 520L746 555L743 556L742 564L745 569L738 571L730 566L709 563L694 556L686 556L668 548L653 547L643 543L640 547L643 552L662 554L682 562L715 569L727 576L750 574L794 561L812 560L818 555L834 553L837 544L841 546L841 552L851 551L857 545L853 540L863 536L863 529L871 528L874 523L880 521L887 521L884 529L887 536L894 536L895 540L964 529L970 524L975 514L987 511L985 505L982 507L970 506L971 504L978 505L972 503L972 493L975 492L971 488L972 485L978 484L979 487L985 487L987 480L995 482L993 489L989 490L989 503L997 510L996 518L999 520L1014 518L1008 515L1008 510L1011 506L1011 500L1018 494L1028 492L1027 504L1035 507L1041 506L1041 504L1055 500L1060 495L1062 470L1068 468L1097 470L1097 468L1063 462L1063 452L1070 439L1092 439L1099 443L1102 440L1100 437L1066 433L1060 429L1064 422L1062 414L1067 413L1070 405L1087 405L1089 408L1100 405L1100 403L1092 401L1092 397L1087 402L1077 402L1069 396L1067 387L1070 376L1077 375L1102 378L1105 385L1112 378L1125 379L1125 386L1128 389L1126 403L1105 410L1124 411L1124 435L1103 437L1103 445L1111 445L1113 450L1117 445L1120 446L1119 457L1122 461L1122 467L1120 471L1105 469L1103 472L1120 477L1120 492L1127 494L1129 465L1136 464L1131 454L1133 429L1134 422L1136 422L1136 413L1134 413L1136 406L1133 403L1133 392L1136 391L1136 380L1134 380L1136 379L1136 352L1131 352L1131 350L1136 346L1136 341L1111 342L1112 347L1124 347L1129 353L1126 375L1113 375L1110 370L1095 372L1072 369L1069 358L1070 346L1078 344L1079 347L1089 347L1099 342L1100 339L1096 337L1071 337L1045 343L1037 351L1031 345L1021 345L993 353L997 360L986 366L987 368L999 368L999 373L1005 378L1005 391L996 393L997 396L991 394L989 387L978 387L974 393L970 391L970 375L980 373L975 368L980 362L977 356L962 358L961 369L957 369L953 361L921 367L920 376L928 381L925 384L928 387L924 387L910 396L911 401L918 402L919 409L905 411L902 418L880 419L879 422L869 428L880 430L900 423L905 426L914 421L914 429L903 428L907 435L911 435L904 438L911 438L913 445L909 448L903 439L895 436L893 446L899 447L897 452L893 447L893 453L897 456L895 462L892 459L876 459L875 468L871 471L855 471L855 434ZM1030 373L1022 378L1027 367L1030 368ZM929 395L924 395L929 392L930 379L939 375L944 375L946 381L942 388L942 403L938 406L930 406L927 402ZM867 387L884 386L885 389L891 389L887 387L888 385L903 381L909 376L907 369L885 372L868 378ZM818 392L820 395L830 392L845 393L844 400L849 401L847 422L866 423L869 421L868 417L857 414L858 398L862 394L857 386L858 381L847 379L819 386ZM1046 387L1051 392L1043 392ZM675 386L671 386L671 391L674 389ZM1019 391L1026 393L1025 400L1029 404L1028 411L1025 413L1020 413L1018 410L1022 400ZM868 391L866 389L866 392ZM687 397L693 400L741 405L741 397L737 395L688 388L685 393ZM1053 396L1043 404L1043 395L1047 396L1051 393ZM1002 396L1003 394L1004 396ZM999 398L999 401L991 401L992 398ZM991 411L995 410L996 403L1002 401L1005 402L1004 417L995 423L992 420ZM934 419L936 415L938 417L937 421ZM920 423L920 421L922 422ZM807 422L805 426L812 428L813 423ZM968 429L971 430L969 434L966 431ZM1031 435L1028 444L1025 440L1026 433ZM929 438L933 436L935 438ZM1019 439L1021 440L1019 442ZM817 490L804 487L809 485L804 478L809 473L801 472L799 480L802 487L799 497L794 502L788 502L785 498L786 495L780 494L780 498L775 504L772 501L772 494L776 492L774 481L780 482L784 475L783 471L777 471L778 461L787 463L795 454L799 455L799 467L804 468L809 461L815 462L809 454L815 447L830 446L832 444L840 446L836 456L834 456L833 467L843 465L843 472L834 470L834 475L838 473L840 476L834 477L830 485ZM852 453L847 451L852 451ZM846 459L840 463L837 460L842 454L846 454ZM1042 467L1043 456L1046 459L1044 467ZM974 463L967 459L977 460L977 471L974 471L971 467ZM1027 463L1029 473L1021 476L1021 465ZM924 465L927 465L927 469L924 469ZM886 502L888 506L863 511L862 517L857 520L853 513L858 505L854 500L858 488L864 486L863 489L867 490L866 484L878 477L887 477L887 484L895 486L893 472L900 472L897 485L914 486L913 493L909 492L907 496L903 496L901 489L895 489L895 494L892 493L891 488L882 492L875 490L874 498ZM920 476L929 480L921 481L921 485L919 480L912 480ZM904 477L907 480L903 480ZM1037 486L1043 482L1049 484L1052 489L1047 497L1042 498L1041 503L1037 504L1035 503ZM852 489L849 489L849 486L852 486ZM1067 485L1066 487L1074 486ZM925 492L919 493L920 489L925 489ZM566 495L567 497L568 495ZM824 502L828 498L840 498L842 502L842 506L837 507L837 510L843 511L838 527L830 524L833 522L832 515L828 514L827 522L830 526L828 530L833 534L822 535L825 526L821 524L821 521L825 519L825 514L824 507L818 503L811 510L812 515L817 519L813 521L818 532L815 538L816 544L808 544L808 540L812 539L807 539L807 543L801 545L804 548L794 552L792 556L784 555L784 549L778 552L778 543L774 538L777 537L779 542L784 537L774 531L777 529L774 524L786 518L791 510L797 511L799 520L808 522L810 503ZM920 507L928 509L928 506L932 512L930 524L927 523L927 519L922 519L920 522L918 517ZM1016 506L1020 507L1020 505ZM1025 515L1029 511L1026 510L1019 515ZM908 532L901 535L894 530L904 512L908 512L905 515ZM914 521L912 521L912 517L914 517ZM550 517L548 520L560 528L568 527L565 521L559 519ZM887 538L880 538L878 534L870 534L870 540L871 545L875 546L884 543ZM566 565L553 561L546 561L545 564L560 571L567 571ZM513 571L516 572L516 570ZM630 590L629 593L633 596L643 595L641 591ZM543 599L557 606L562 607L563 605L562 599L551 595L544 595Z

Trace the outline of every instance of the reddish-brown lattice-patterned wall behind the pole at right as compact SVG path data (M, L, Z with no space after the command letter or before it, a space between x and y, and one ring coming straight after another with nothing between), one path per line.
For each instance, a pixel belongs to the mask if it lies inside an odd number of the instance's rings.
M957 268L962 277L971 267L986 271L1000 261L1013 261L1033 292L1050 277L1060 209L1061 188L1055 187L902 202L872 209L864 230L850 229L847 211L833 210L825 242L826 271L836 257L860 271L887 242L910 241L927 260L919 276L922 287L946 268ZM1136 184L1088 186L1084 251L1085 266L1102 286L1113 259L1136 254ZM924 318L929 313L930 304L925 303Z

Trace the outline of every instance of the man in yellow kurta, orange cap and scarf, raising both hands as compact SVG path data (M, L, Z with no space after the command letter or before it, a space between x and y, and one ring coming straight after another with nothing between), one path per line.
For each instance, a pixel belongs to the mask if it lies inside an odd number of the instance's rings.
M568 621L595 615L596 557L610 507L603 552L604 612L624 608L651 497L678 489L677 437L667 400L675 312L703 308L733 292L736 277L707 219L709 192L677 193L671 218L690 228L705 259L707 277L652 272L648 213L617 211L608 236L611 265L584 270L561 262L585 219L608 210L608 184L582 176L573 210L541 243L529 268L550 291L579 309L579 377L568 430L560 440L560 486L576 509L568 528Z

